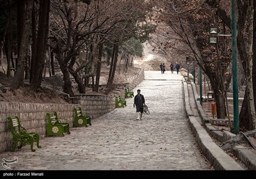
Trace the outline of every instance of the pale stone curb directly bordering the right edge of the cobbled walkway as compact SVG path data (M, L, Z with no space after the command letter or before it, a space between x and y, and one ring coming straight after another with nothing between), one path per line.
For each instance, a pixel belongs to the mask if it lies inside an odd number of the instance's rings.
M186 109L190 109L188 97L188 86L187 82L183 81L184 86L184 99ZM186 86L186 87L185 87ZM187 93L187 95L185 95ZM212 166L216 170L244 170L237 162L232 159L227 153L225 153L219 146L217 146L214 141L212 141L209 134L205 131L198 121L196 121L195 116L189 116L189 111L187 112L189 118L189 126L193 134L196 137L196 142L205 157L211 162Z

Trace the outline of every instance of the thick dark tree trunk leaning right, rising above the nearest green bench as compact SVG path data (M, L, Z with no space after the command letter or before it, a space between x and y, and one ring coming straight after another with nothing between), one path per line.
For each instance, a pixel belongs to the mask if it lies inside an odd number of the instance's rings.
M19 88L24 80L24 63L28 54L29 34L31 27L31 11L33 8L33 0L23 0L20 8L20 38L19 38L19 61L16 73L10 87L12 89Z

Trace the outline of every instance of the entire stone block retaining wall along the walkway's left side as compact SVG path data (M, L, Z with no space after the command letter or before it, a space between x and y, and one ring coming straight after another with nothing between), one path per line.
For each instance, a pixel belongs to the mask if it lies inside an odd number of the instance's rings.
M127 87L133 89L143 80L144 70L141 69L129 79ZM124 96L124 89L120 89L118 93L121 97ZM18 116L22 127L26 128L27 132L37 132L42 139L46 136L46 113L56 111L59 118L67 118L70 127L73 127L74 107L81 107L83 113L90 113L92 119L115 109L115 96L113 95L80 95L79 98L76 104L0 102L0 152L10 150L12 147L8 116Z

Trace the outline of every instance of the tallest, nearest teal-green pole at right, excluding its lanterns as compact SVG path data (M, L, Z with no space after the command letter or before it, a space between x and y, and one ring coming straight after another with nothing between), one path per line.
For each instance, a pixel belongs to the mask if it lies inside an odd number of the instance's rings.
M237 29L236 29L236 0L231 0L231 31L232 31L232 77L234 105L234 134L239 133L238 79L237 79Z

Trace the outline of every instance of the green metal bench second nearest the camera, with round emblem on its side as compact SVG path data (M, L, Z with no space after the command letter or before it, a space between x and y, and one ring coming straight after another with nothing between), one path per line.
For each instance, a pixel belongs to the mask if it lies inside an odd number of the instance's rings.
M59 119L56 112L46 113L47 134L46 136L64 136L64 133L70 134L69 123L67 119ZM65 121L65 122L63 122Z

